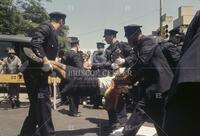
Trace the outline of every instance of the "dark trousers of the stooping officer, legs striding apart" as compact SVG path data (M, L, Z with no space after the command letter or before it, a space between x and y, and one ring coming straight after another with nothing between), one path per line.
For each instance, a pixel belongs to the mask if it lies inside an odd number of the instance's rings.
M163 113L164 98L142 99L124 127L124 136L135 136L145 121L154 123L158 136L167 136L162 129Z

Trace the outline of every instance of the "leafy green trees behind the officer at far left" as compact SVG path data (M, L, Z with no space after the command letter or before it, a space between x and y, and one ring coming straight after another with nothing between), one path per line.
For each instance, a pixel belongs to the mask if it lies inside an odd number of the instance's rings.
M29 36L36 26L49 20L42 1L0 0L0 33ZM59 45L64 50L69 47L66 42L68 30L68 26L65 26L59 32Z

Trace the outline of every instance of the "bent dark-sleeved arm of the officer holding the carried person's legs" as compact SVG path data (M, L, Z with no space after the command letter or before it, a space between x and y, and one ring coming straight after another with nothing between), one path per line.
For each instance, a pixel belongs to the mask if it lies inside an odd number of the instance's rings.
M31 40L31 48L33 52L40 58L43 59L43 62L48 62L46 53L43 48L43 44L48 40L50 35L50 28L48 25L44 24L36 28L36 31L33 33Z

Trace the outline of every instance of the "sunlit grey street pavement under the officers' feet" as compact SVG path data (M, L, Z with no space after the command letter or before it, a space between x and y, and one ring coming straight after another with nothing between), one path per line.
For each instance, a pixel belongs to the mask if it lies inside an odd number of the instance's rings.
M23 94L24 95L24 94ZM23 96L21 108L11 109L8 103L0 104L0 136L17 136L23 121L28 114L29 103L27 95ZM56 136L107 136L109 131L107 112L104 109L91 109L91 106L80 105L81 117L68 115L68 106L60 106L52 110ZM138 136L155 136L152 124L145 123L138 132Z

